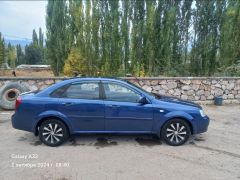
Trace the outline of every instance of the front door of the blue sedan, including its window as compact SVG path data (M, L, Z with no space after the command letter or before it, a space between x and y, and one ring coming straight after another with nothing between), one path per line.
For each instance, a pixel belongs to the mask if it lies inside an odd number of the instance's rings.
M103 82L105 129L115 132L150 132L153 123L152 105L140 104L141 95L116 82Z

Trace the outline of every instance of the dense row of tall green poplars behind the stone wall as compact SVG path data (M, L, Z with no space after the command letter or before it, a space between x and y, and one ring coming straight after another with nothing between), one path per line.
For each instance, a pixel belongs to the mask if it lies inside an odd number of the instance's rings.
M88 75L214 75L239 60L239 4L49 0L47 59L55 74L76 48Z

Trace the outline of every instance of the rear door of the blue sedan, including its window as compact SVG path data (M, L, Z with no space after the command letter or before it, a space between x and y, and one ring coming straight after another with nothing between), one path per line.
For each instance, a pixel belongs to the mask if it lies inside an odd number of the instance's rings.
M59 100L59 111L70 120L74 131L104 131L104 104L99 82L69 85Z

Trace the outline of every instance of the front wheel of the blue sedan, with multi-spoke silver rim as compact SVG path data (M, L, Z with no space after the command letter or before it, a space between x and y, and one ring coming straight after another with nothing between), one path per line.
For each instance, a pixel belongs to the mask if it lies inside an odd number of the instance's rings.
M167 121L161 130L161 138L171 146L180 146L190 137L189 124L183 119Z

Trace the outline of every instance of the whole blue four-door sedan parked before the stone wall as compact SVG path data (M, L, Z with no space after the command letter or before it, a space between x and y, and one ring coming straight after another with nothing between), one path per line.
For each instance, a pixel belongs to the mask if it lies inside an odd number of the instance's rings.
M207 131L201 106L149 93L111 78L74 78L40 92L21 94L12 125L33 132L49 146L81 133L153 134L167 144L184 144Z

